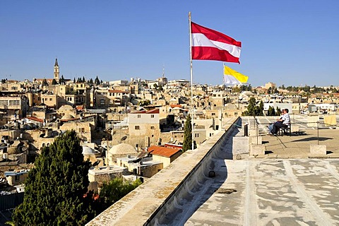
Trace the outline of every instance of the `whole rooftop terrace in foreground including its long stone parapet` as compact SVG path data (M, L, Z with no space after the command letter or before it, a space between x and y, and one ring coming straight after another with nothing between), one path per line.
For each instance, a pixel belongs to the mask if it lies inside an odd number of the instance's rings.
M249 155L253 117L228 119L225 132L184 153L88 225L338 225L338 129L307 127L300 135L267 136L264 155ZM254 126L255 127L255 126ZM335 127L331 127L335 128ZM311 156L310 144L326 145ZM215 172L215 177L212 172Z

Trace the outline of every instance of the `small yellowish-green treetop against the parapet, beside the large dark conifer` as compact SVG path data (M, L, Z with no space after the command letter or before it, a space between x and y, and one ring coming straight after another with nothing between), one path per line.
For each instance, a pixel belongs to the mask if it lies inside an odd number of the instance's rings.
M99 205L100 212L112 206L115 202L119 201L120 198L129 194L130 191L133 191L141 184L140 179L129 183L124 182L122 178L114 178L112 181L108 183L104 183L102 185L102 189L100 191L99 196Z

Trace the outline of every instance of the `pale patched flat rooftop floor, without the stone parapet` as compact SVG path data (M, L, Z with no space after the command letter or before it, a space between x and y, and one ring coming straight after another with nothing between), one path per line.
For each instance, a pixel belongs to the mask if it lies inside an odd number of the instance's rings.
M258 119L263 156L242 153L246 137L239 129L228 145L241 159L215 160L216 177L195 196L182 225L339 225L339 129L318 131L305 117L297 119L303 133L292 136L268 136L271 119ZM311 156L309 146L318 143L326 145L326 155Z

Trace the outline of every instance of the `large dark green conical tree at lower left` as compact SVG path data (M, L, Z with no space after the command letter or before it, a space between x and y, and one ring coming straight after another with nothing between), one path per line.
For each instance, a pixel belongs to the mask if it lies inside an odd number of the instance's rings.
M87 195L89 160L80 139L66 131L44 147L25 181L25 198L13 212L16 225L84 225L95 212Z

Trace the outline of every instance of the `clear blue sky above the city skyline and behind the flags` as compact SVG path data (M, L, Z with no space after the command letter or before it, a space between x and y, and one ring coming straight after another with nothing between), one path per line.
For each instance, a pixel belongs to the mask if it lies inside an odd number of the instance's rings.
M339 85L339 1L0 1L0 78L190 79L192 21L242 42L252 86ZM193 61L221 84L222 62Z

